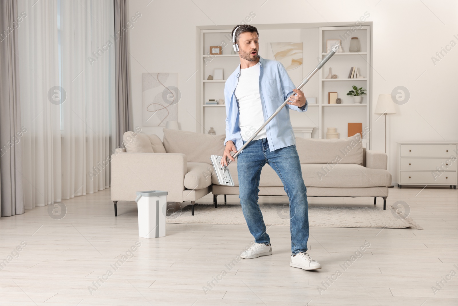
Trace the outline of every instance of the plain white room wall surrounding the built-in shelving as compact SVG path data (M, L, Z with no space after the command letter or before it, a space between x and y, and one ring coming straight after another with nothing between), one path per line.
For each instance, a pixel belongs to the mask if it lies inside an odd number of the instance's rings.
M410 100L396 106L398 113L387 119L388 170L393 182L397 180L397 141L458 141L458 1L150 1L129 1L129 16L136 11L142 14L129 30L135 126L142 127L142 73L178 72L180 128L196 131L198 72L188 78L198 69L197 26L235 26L251 11L256 13L250 22L255 26L288 22L327 22L333 26L336 22L354 24L368 12L367 21L373 22L374 106L379 94L389 94L397 86L406 87L410 93ZM443 52L442 59L433 63L431 57L446 47L448 53ZM377 117L373 117L372 149L383 151L383 117L375 120ZM162 127L142 130L163 135Z

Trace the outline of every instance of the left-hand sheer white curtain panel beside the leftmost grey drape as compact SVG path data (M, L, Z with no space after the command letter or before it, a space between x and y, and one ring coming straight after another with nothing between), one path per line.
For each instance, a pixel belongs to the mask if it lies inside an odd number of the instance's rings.
M48 99L59 85L57 0L18 0L27 14L18 28L21 87L24 208L61 199L60 106Z

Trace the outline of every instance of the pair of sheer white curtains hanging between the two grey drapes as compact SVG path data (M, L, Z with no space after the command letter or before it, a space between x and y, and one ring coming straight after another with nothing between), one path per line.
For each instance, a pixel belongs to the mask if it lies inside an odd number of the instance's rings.
M31 209L109 186L113 1L18 0L18 6L27 12L19 56Z

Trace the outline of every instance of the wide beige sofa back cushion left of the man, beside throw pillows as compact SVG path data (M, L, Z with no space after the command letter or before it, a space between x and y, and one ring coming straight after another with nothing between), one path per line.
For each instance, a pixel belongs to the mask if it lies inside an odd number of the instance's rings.
M167 153L183 153L191 162L211 164L210 155L223 156L226 136L208 135L164 128L164 147Z

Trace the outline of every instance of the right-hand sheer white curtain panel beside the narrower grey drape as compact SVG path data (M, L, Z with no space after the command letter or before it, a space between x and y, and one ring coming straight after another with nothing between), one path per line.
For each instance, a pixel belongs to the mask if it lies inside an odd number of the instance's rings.
M113 1L61 2L62 198L109 187Z

